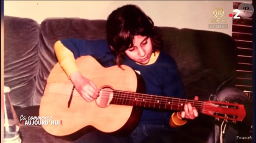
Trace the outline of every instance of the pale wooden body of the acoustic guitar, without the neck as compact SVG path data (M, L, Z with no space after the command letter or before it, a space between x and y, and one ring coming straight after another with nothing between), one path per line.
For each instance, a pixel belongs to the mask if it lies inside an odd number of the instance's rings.
M98 89L145 92L143 79L128 66L122 65L124 70L118 66L104 68L91 56L80 57L75 62L82 75L93 81ZM110 104L112 95L102 91L97 100L87 102L73 87L60 64L56 64L49 74L41 98L39 116L61 120L62 125L49 123L42 127L49 134L68 140L77 139L92 129L116 136L128 134L139 123L142 110L132 106Z

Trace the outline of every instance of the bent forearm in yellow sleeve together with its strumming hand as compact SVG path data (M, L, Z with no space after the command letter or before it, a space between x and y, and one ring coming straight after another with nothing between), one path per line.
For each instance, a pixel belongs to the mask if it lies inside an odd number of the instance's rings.
M99 92L94 82L83 77L79 72L76 64L74 54L68 50L60 41L54 44L54 51L60 63L61 68L67 74L78 93L88 102L94 101Z

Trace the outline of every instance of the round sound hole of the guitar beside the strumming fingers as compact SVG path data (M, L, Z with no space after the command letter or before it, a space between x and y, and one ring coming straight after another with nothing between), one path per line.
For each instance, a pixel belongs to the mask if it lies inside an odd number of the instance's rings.
M110 87L103 87L100 89L99 97L95 100L99 107L108 107L113 99L113 89Z

